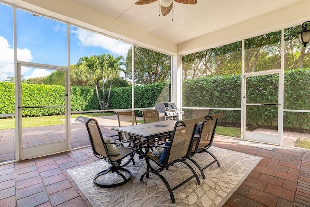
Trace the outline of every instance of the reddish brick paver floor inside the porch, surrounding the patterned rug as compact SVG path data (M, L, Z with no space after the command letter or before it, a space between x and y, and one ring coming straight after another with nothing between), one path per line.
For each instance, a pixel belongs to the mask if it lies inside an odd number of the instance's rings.
M310 151L272 150L217 136L214 146L263 157L224 207L310 206ZM67 169L97 160L90 147L0 166L0 207L91 206Z

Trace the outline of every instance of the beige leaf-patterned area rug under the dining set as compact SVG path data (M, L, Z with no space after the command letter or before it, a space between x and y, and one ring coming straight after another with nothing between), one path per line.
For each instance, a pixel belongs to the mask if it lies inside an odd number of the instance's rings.
M221 167L214 163L205 169L205 180L195 168L200 175L201 184L197 185L196 179L193 178L174 190L174 204L166 186L157 175L150 174L149 179L144 177L140 182L142 173L146 171L146 164L144 159L139 160L138 156L135 156L136 165L130 163L126 166L132 172L131 180L117 188L99 188L93 184L94 175L108 168L108 164L103 160L68 170L68 173L94 207L220 207L262 158L217 147L211 147L210 152L217 157ZM214 160L208 153L196 153L193 159L201 166L206 166ZM185 166L178 163L162 172L171 188L193 175Z

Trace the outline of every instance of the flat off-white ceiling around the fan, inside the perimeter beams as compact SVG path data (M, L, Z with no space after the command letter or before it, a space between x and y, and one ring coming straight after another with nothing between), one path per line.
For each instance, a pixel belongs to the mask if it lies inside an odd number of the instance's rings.
M303 0L197 0L196 5L174 2L173 12L167 16L159 16L159 0L147 5L136 5L137 0L72 1L179 44Z

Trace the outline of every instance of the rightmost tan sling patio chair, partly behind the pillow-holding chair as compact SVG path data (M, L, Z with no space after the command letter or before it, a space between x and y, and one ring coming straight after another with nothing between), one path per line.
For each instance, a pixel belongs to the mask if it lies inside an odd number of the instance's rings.
M205 118L206 122L201 127L200 134L198 136L196 135L196 137L195 137L195 143L194 143L193 148L192 148L192 153L188 159L190 161L192 161L198 167L198 169L200 170L200 172L202 174L203 179L205 179L205 175L204 175L203 171L205 169L207 169L209 166L211 166L213 163L217 162L218 167L221 167L217 158L211 152L209 152L208 149L212 145L218 119L225 117L225 116L226 115L223 113L205 116L204 118ZM193 160L191 158L196 152L198 152L198 153L206 152L206 153L210 154L215 160L212 161L211 163L209 163L207 166L202 168L195 160Z

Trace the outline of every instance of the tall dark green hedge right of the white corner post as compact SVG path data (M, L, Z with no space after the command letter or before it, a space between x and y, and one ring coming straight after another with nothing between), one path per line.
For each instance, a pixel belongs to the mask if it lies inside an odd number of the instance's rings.
M284 77L284 109L310 110L310 69L285 71ZM248 77L247 103L278 103L278 80L277 74ZM184 107L241 108L240 75L184 80L182 91ZM212 114L217 112L224 111L210 111ZM277 126L277 106L248 106L246 114L247 124ZM226 115L222 123L240 126L240 111L226 111ZM284 128L309 130L310 114L284 112Z

